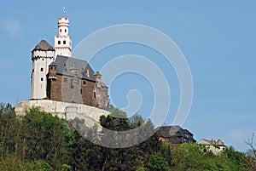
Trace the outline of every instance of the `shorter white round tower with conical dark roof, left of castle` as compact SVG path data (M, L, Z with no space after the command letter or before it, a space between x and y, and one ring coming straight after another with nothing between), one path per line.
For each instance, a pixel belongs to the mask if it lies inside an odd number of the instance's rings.
M32 50L32 100L46 98L49 64L54 61L55 49L42 40Z

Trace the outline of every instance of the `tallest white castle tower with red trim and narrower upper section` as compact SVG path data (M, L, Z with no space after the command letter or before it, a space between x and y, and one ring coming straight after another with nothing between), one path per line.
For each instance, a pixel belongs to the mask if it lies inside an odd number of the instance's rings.
M55 57L58 54L71 57L72 40L68 35L69 19L61 17L58 19L59 36L55 36Z

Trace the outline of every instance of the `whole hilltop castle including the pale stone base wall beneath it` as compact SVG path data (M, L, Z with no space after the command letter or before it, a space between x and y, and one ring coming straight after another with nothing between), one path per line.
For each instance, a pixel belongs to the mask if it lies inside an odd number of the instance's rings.
M72 39L68 34L69 19L58 19L55 48L42 40L32 49L31 100L15 106L17 115L39 106L58 117L83 118L87 125L108 115L108 86L99 71L87 61L72 57Z

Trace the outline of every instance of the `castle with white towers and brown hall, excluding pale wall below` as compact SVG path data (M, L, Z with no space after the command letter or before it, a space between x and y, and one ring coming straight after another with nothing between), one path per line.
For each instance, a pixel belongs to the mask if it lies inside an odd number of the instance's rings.
M72 57L69 20L58 19L55 48L42 40L32 50L31 100L49 99L108 109L108 86L102 75L84 61Z

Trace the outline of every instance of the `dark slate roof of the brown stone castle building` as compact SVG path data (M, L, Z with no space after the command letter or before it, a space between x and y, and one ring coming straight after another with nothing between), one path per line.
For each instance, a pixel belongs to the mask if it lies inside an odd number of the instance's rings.
M57 74L73 77L73 73L71 71L75 70L78 71L77 77L94 82L96 81L94 77L95 72L85 60L57 55L52 64L57 66ZM87 71L89 71L89 77L87 76Z

